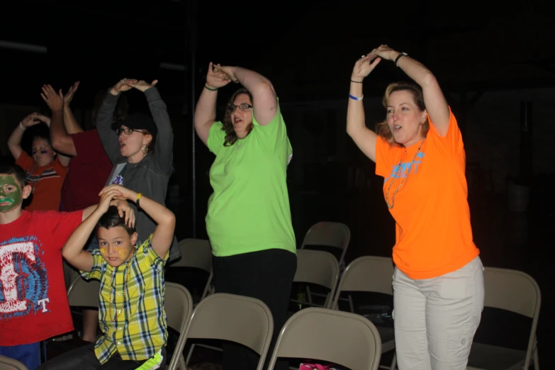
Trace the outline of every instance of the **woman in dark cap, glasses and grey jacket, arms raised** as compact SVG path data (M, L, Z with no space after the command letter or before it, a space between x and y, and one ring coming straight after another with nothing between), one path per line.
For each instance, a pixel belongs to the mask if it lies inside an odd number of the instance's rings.
M136 79L117 82L108 90L101 104L96 116L96 130L113 164L106 185L125 186L165 206L169 176L172 175L174 133L166 104L156 84L157 80L152 84ZM113 122L113 113L121 93L130 89L145 93L152 117L133 113ZM154 232L156 224L144 211L135 208L135 212L139 240L145 242ZM177 239L174 238L169 262L179 257L181 254Z

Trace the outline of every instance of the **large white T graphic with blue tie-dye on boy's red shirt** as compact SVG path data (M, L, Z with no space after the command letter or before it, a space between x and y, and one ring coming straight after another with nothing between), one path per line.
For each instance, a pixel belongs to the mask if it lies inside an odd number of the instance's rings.
M0 243L0 320L45 313L48 278L36 237L14 237Z

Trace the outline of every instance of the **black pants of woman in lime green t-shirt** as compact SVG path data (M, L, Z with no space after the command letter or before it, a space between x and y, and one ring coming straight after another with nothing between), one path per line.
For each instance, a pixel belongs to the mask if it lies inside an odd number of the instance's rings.
M274 317L274 335L264 369L281 327L287 320L287 308L291 299L291 284L297 269L297 257L287 250L263 250L235 254L229 257L213 257L213 279L216 293L231 293L257 298L266 303ZM240 344L224 344L224 370L256 369L259 356ZM288 370L288 361L276 363L276 370Z

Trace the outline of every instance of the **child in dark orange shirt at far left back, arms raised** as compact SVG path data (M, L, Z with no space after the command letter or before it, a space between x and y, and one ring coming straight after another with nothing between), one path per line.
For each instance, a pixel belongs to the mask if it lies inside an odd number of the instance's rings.
M60 102L60 105L62 105L62 102ZM52 111L52 118L56 118L57 114L61 113ZM31 184L33 198L26 206L26 210L58 211L69 157L57 155L52 148L50 138L46 137L36 136L33 138L30 156L21 147L23 133L31 126L41 122L50 127L50 118L38 113L31 113L23 118L11 133L8 139L8 147L11 155L16 159L16 164L27 173L28 181Z

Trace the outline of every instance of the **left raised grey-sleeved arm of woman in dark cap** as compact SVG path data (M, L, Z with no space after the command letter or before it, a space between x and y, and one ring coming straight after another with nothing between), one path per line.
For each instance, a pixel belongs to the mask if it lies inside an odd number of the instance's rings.
M113 112L116 110L118 99L122 91L131 89L131 84L135 84L136 79L122 79L118 81L106 94L96 115L96 130L102 146L110 158L112 164L116 164L123 160L120 153L120 144L118 135L112 130Z

